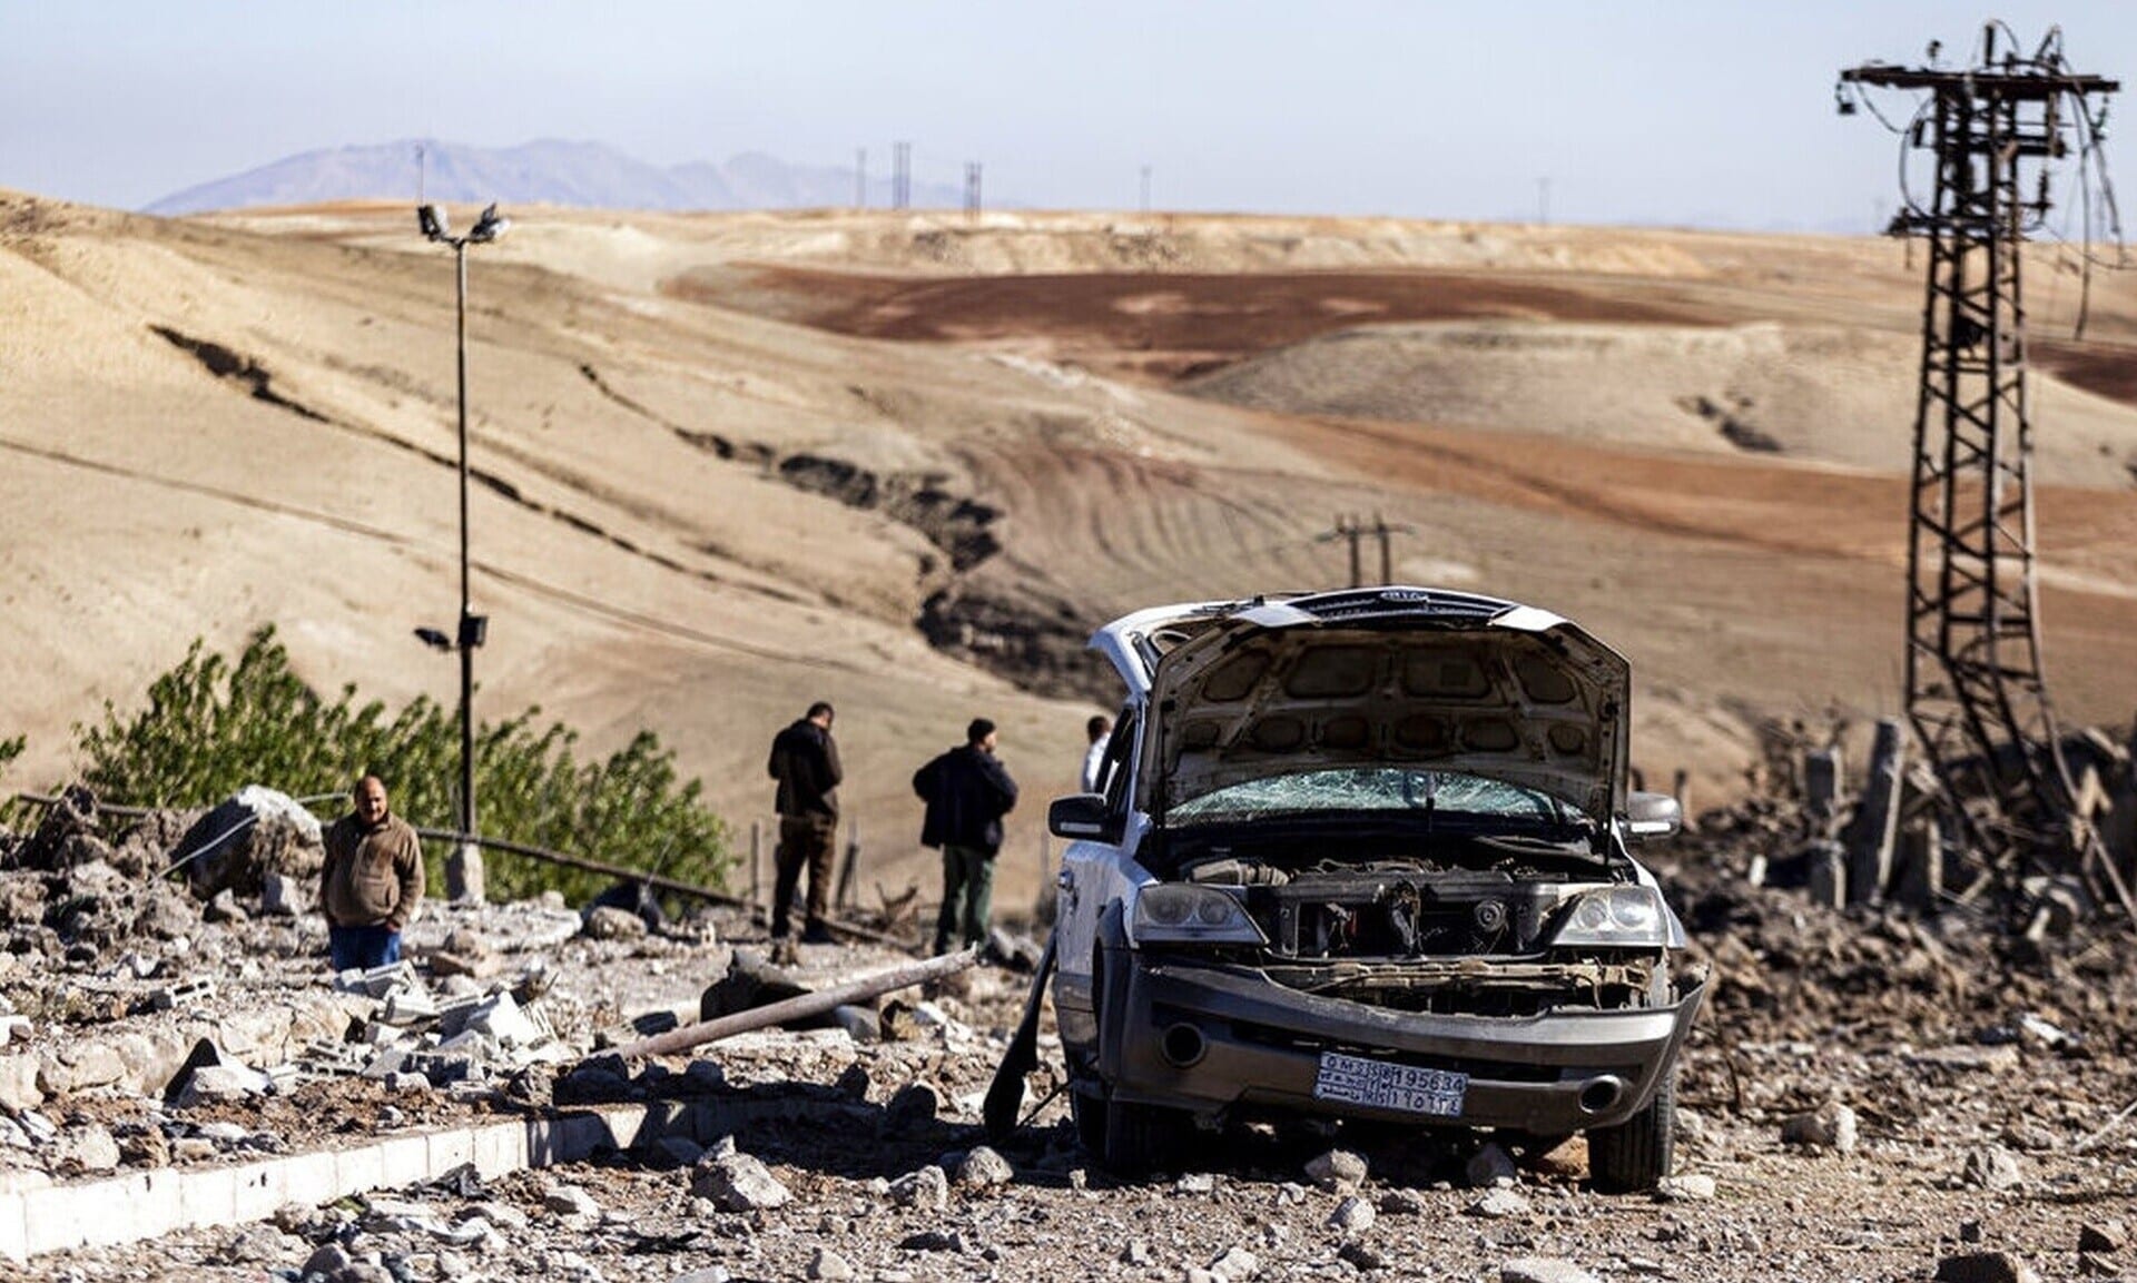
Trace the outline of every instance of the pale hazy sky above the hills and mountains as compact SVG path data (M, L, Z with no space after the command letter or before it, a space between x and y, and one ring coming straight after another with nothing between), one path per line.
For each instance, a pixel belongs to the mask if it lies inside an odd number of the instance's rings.
M1148 164L1160 209L1534 218L1547 184L1554 222L1868 231L1898 147L1834 73L1990 15L2137 92L2133 0L0 0L0 188L139 207L410 137L887 175L908 139L989 203L1133 209Z

